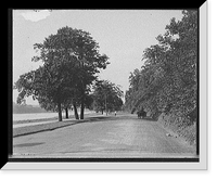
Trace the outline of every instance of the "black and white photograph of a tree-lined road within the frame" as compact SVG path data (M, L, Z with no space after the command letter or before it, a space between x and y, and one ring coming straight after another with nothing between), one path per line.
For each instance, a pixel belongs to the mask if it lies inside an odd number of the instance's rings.
M199 22L199 9L12 10L11 160L203 162Z

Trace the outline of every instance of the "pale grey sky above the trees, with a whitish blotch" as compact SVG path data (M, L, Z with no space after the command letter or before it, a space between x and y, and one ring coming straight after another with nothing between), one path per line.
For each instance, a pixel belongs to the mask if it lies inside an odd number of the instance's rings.
M13 83L42 65L31 62L34 44L68 26L90 33L111 63L99 78L119 85L125 92L130 72L143 64L143 51L157 43L156 37L165 33L173 17L181 20L181 10L13 10ZM13 102L17 94L13 90ZM38 104L31 98L26 103Z

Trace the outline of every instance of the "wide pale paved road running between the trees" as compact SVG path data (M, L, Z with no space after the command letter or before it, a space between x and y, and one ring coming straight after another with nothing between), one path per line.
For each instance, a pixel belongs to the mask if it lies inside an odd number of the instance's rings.
M135 115L91 118L65 128L13 139L14 156L193 157L194 149L151 118Z

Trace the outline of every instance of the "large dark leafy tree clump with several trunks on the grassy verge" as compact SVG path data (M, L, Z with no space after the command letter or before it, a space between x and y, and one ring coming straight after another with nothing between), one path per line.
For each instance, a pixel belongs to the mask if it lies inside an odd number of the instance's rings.
M97 79L99 68L104 69L110 64L108 57L99 53L99 44L89 33L67 26L42 43L35 43L34 49L38 54L31 61L42 61L43 65L22 75L15 82L20 91L17 102L33 95L43 107L58 108L61 121L62 105L73 100L75 112L80 104L82 119L88 87Z

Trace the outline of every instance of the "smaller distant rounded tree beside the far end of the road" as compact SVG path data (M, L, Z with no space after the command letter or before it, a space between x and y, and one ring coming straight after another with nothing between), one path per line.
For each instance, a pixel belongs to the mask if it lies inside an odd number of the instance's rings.
M118 86L107 80L99 80L93 87L93 106L95 111L102 114L107 112L119 111L123 106L123 91Z

